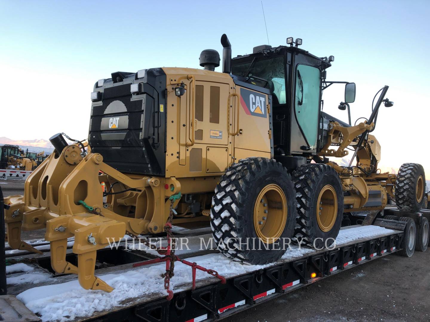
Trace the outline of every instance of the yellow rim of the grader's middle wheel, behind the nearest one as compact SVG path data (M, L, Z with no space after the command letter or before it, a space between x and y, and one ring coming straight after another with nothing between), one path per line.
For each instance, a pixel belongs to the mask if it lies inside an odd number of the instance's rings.
M322 231L329 231L335 225L338 215L338 197L331 185L325 185L319 192L316 204L316 221Z

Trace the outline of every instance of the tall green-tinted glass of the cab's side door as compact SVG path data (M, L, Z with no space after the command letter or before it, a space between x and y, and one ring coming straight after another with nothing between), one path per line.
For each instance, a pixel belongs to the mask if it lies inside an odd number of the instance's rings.
M318 68L300 64L295 80L295 115L309 146L316 146L320 92Z

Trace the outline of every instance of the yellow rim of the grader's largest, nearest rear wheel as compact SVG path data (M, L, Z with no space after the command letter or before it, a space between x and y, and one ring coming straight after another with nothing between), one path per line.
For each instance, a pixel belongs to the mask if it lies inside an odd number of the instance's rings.
M254 205L254 228L264 243L281 237L287 221L287 199L278 185L266 185Z

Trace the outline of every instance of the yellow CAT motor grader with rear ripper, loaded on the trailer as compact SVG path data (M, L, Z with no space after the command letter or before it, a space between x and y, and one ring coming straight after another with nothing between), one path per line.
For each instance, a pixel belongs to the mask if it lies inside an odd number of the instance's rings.
M91 152L51 137L55 152L28 177L24 195L5 198L9 245L38 252L21 230L46 227L52 268L77 274L84 289L110 292L94 275L97 250L124 234L163 233L171 212L173 225L210 225L225 256L267 264L284 254L285 238L331 245L344 213L382 210L388 196L402 210L421 208L421 165L404 164L398 175L378 170L381 146L371 132L381 104L393 104L388 86L370 117L351 125L322 111L322 92L333 84L345 84L342 108L355 100L354 83L326 80L332 56L311 55L292 38L236 58L225 34L221 44L222 73L209 49L203 69L98 80ZM332 161L350 151L349 166ZM77 266L66 261L68 237ZM246 239L265 247L244 246Z

